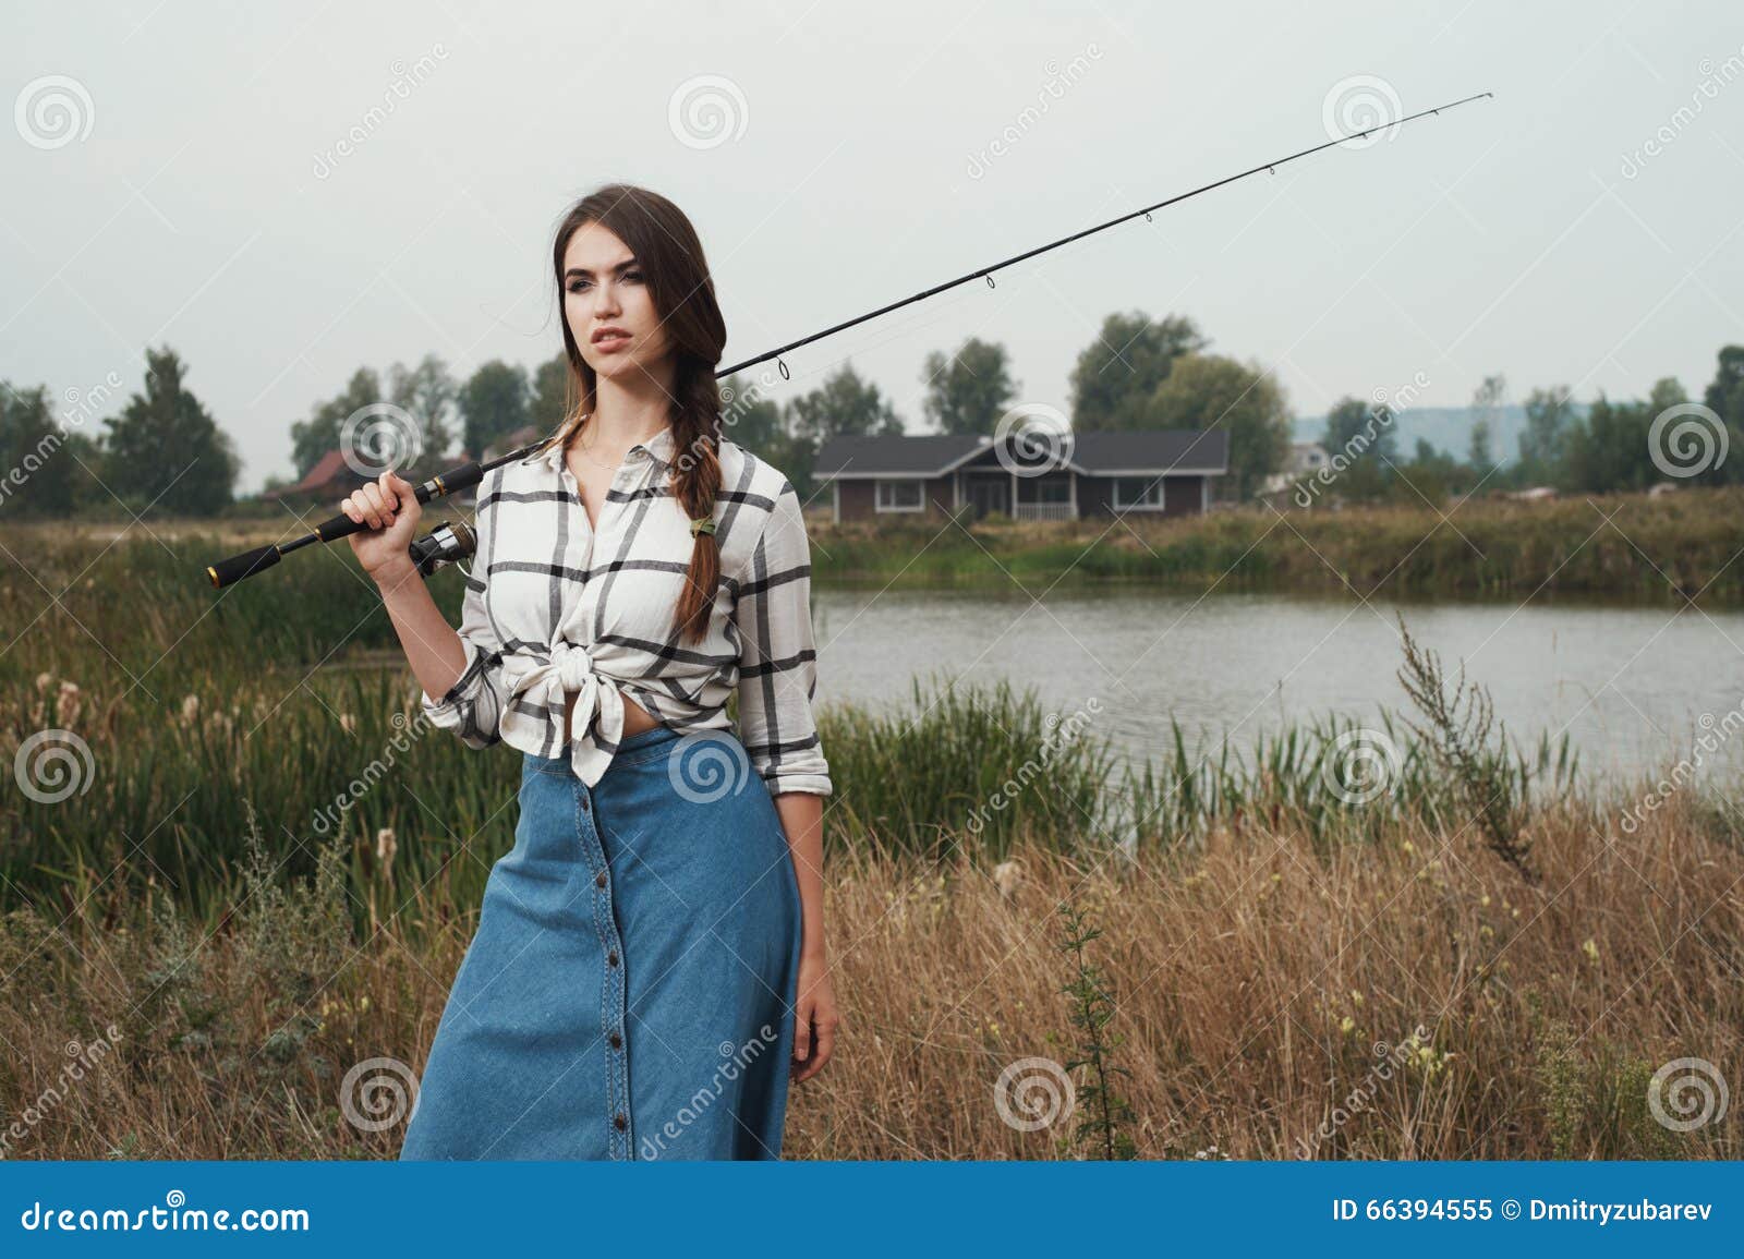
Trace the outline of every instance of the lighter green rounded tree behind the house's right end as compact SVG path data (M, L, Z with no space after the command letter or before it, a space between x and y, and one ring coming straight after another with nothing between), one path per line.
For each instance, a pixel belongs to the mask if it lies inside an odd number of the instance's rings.
M1217 354L1188 354L1175 363L1141 419L1148 429L1224 429L1238 499L1257 493L1291 450L1291 413L1277 378L1259 364Z

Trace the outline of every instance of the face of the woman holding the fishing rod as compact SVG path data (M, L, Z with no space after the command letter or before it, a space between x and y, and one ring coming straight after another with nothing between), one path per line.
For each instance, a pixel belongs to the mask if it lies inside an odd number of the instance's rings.
M584 223L563 249L563 317L569 333L600 377L654 375L668 337L654 310L642 263L602 223ZM600 338L607 328L626 335Z

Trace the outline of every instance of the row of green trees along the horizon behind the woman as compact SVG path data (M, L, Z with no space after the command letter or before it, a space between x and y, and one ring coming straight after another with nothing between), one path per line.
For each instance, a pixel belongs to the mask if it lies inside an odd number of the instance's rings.
M1153 319L1142 310L1104 319L1097 337L1071 371L1069 415L1074 432L1141 429L1207 429L1230 432L1230 474L1217 493L1245 500L1275 483L1289 467L1294 417L1271 371L1209 352L1210 342L1186 316ZM119 403L115 391L89 391L63 399L59 413L49 389L16 389L0 380L0 511L7 516L72 516L113 509L138 516L211 516L237 502L241 459L230 436L188 384L188 370L169 347L148 349L145 378ZM992 434L1020 401L1008 350L977 337L954 352L931 352L921 371L919 406L930 431ZM895 401L844 363L806 392L776 399L769 380L722 380L726 432L781 467L802 495L811 492L818 448L834 436L886 436L907 431ZM309 417L290 425L291 476L267 488L302 480L330 450L340 446L351 417L391 403L417 424L424 457L419 471L439 471L460 453L478 457L488 445L535 425L555 427L567 408L569 364L562 354L527 368L494 359L466 378L450 373L434 354L415 366L394 363L385 373L358 368L333 398L317 401ZM1322 445L1336 455L1332 493L1366 500L1399 497L1439 502L1474 488L1554 485L1563 490L1639 490L1666 480L1652 457L1655 420L1686 405L1683 387L1664 378L1646 399L1599 396L1585 413L1566 385L1533 389L1524 403L1526 429L1519 459L1496 459L1493 413L1507 384L1489 377L1477 389L1470 448L1454 455L1418 439L1409 457L1399 450L1393 401L1339 399L1325 417ZM119 410L101 420L110 401ZM1397 401L1397 399L1395 399ZM1720 350L1704 406L1718 419L1713 438L1728 443L1744 429L1744 347ZM1711 460L1697 483L1744 480L1744 460Z

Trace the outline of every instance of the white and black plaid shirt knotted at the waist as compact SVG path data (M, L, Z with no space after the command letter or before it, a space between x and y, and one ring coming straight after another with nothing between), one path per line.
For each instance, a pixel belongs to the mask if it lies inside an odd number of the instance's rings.
M666 429L630 450L596 539L560 448L485 473L460 609L466 671L439 701L424 692L424 713L469 748L501 741L555 757L569 743L591 786L624 738L624 696L692 732L731 725L736 687L738 738L769 792L830 795L811 711L818 654L799 495L720 439L720 584L708 633L680 640L673 617L696 539L664 476L673 445ZM572 739L565 691L579 692Z

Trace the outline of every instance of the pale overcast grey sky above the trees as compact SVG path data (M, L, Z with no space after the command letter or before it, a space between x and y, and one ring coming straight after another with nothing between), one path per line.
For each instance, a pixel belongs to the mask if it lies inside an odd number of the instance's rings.
M1493 373L1692 396L1744 342L1744 7L9 5L0 378L63 424L169 345L239 492L359 366L560 347L551 234L609 181L692 220L724 366L1376 122L1493 92L788 356L926 431L923 363L1069 406L1116 310L1189 316L1294 413L1458 406Z

